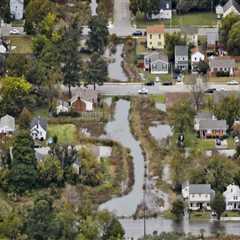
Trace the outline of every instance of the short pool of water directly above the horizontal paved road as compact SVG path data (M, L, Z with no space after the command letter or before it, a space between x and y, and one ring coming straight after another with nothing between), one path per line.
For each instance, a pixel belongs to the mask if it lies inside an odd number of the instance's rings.
M128 77L122 68L122 52L123 52L123 44L118 44L116 47L116 53L110 53L110 50L107 49L105 56L110 59L110 63L108 64L108 73L109 78L115 81L127 81Z

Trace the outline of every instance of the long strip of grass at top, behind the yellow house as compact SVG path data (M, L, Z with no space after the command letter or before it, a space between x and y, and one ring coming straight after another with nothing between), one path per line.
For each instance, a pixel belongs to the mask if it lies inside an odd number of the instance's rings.
M136 17L136 25L139 28L144 28L148 25L160 24L163 23L166 27L170 27L170 21L162 21L162 20L151 20L146 21L142 14L139 14ZM178 27L181 25L192 25L192 26L214 26L217 24L216 14L215 13L190 13L183 15L173 15L172 18L172 26Z

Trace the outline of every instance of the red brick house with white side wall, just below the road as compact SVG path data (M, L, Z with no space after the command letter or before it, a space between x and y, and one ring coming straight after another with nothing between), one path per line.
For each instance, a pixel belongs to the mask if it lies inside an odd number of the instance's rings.
M97 104L98 94L90 89L82 88L70 99L71 108L75 112L91 112Z

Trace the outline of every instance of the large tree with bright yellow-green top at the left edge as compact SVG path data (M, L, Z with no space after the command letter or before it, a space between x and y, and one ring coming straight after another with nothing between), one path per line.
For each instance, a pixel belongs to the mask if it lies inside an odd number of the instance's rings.
M25 107L32 86L23 78L5 77L2 79L0 113L17 115Z

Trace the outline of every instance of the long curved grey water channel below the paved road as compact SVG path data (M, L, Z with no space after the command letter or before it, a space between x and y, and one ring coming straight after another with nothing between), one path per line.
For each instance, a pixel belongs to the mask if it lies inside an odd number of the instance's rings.
M144 157L139 142L130 132L129 110L130 102L119 100L116 103L114 120L109 122L105 129L105 137L129 148L133 157L135 182L132 191L126 196L113 198L100 206L100 209L107 209L119 217L131 217L143 200Z

